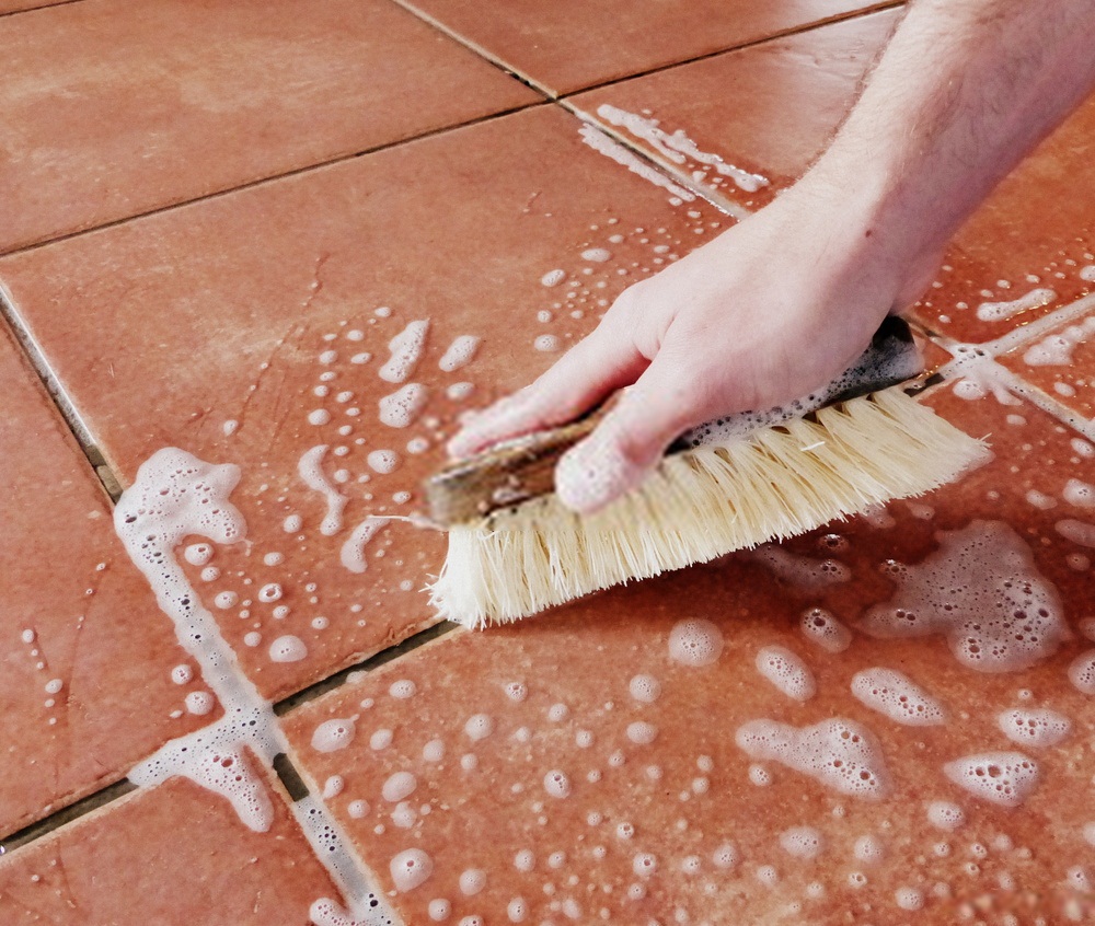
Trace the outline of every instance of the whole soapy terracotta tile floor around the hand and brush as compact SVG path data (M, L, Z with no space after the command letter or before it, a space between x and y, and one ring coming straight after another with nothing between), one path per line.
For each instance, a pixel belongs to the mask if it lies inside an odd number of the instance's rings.
M392 519L457 416L792 183L899 11L25 5L0 3L0 921L1095 915L1095 104L915 310L924 401L989 464L445 633L442 541ZM827 734L862 778L779 761Z

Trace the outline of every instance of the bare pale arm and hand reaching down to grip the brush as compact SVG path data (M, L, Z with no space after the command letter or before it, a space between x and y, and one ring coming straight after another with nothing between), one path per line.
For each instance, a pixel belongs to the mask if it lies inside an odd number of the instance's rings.
M722 415L805 395L934 278L959 225L1095 89L1095 0L914 0L826 152L770 206L626 289L531 385L472 415L466 456L624 390L560 462L591 512Z

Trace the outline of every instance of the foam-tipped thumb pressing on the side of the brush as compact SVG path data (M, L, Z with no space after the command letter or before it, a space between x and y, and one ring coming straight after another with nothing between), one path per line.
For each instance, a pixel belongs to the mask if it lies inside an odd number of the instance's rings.
M603 508L643 482L673 440L708 417L694 371L668 357L659 352L596 430L560 460L555 493L565 506L583 514Z

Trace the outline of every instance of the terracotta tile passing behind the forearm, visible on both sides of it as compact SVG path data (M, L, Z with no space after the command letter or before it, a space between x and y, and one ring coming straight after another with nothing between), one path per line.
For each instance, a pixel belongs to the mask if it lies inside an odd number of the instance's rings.
M682 130L701 151L772 184L757 193L741 190L731 177L690 159L677 170L702 170L705 183L719 181L715 186L724 196L761 206L825 149L898 15L879 12L729 51L593 90L574 103L590 114L614 106L657 119L667 132ZM618 130L630 135L626 128ZM1083 182L1092 170L1093 137L1095 99L1021 164L959 230L938 280L915 309L918 317L958 340L980 343L1091 291L1092 281L1081 270L1095 263L1088 256L1095 251L1090 185ZM1047 202L1053 208L1045 208ZM1035 296L1025 311L1007 316L1002 309L998 320L978 319L981 303L1012 302L1041 289L1053 293L1045 304L1033 304L1039 301Z

